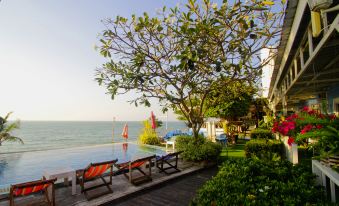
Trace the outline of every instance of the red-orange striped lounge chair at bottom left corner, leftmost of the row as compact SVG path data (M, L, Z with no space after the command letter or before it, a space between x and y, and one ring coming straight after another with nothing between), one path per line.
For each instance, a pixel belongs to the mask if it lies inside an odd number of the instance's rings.
M37 180L21 184L11 185L9 193L9 205L14 206L14 198L18 196L26 196L37 192L44 191L47 203L50 206L55 205L54 182L56 179ZM48 187L52 187L52 196L48 197Z

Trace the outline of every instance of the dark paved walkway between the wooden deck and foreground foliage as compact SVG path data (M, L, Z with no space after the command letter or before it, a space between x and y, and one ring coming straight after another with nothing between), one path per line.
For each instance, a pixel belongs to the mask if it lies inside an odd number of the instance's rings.
M188 176L179 177L168 183L158 185L150 190L131 195L124 199L105 204L105 206L135 206L135 205L189 205L197 189L217 173L217 167L204 169Z

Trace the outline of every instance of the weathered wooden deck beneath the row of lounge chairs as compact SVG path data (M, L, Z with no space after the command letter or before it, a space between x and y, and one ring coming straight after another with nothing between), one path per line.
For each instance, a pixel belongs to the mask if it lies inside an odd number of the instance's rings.
M202 170L204 167L200 164L194 164L190 162L179 161L179 168L181 172L174 173L172 175L166 175L163 173L159 173L156 167L152 167L152 178L153 181L144 183L139 186L134 186L128 182L124 175L118 175L113 177L112 189L113 193L98 197L96 199L92 199L87 201L85 196L80 193L80 186L77 185L77 194L71 195L71 186L69 187L58 187L55 191L55 200L56 205L78 205L78 206L87 206L87 205L102 205L108 202L115 202L124 199L126 196L130 196L136 193L140 193L145 190L149 190L157 185L173 181L179 177L190 175L199 170ZM108 179L108 177L107 177ZM90 191L89 195L98 194L101 192L105 192L105 188L98 188L96 190ZM30 206L40 206L46 205L44 195L37 194L31 195L22 198L15 199L16 205L30 205ZM9 204L8 200L1 200L0 206L7 206Z

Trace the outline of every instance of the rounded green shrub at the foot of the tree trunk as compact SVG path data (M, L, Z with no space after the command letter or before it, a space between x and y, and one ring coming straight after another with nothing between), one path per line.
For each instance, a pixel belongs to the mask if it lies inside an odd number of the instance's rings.
M176 138L176 148L183 151L182 157L187 161L215 161L221 152L221 145L206 140L203 136L197 139L191 136L178 136Z

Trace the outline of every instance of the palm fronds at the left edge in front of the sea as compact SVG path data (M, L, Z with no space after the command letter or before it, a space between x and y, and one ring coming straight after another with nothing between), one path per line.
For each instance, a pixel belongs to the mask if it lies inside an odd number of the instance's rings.
M20 122L8 122L9 116L12 114L12 112L9 112L4 118L0 117L0 146L3 142L20 142L23 144L21 138L13 136L11 132L15 129L19 128Z

